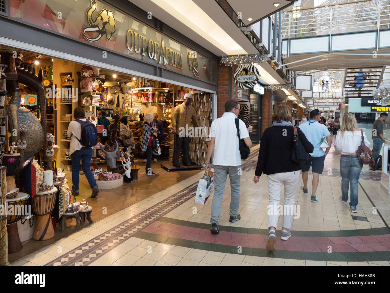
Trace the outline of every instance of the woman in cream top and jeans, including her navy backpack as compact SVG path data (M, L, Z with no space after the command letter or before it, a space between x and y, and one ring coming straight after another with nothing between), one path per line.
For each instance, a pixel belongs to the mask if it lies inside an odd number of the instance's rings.
M97 143L96 127L94 124L90 123L87 119L84 118L84 109L82 107L77 107L76 109L74 109L73 117L75 121L71 121L68 127L68 136L71 138L69 152L72 157L72 194L73 196L78 196L78 185L80 182L79 171L81 160L84 175L85 177L87 177L89 186L92 189L91 198L94 198L97 196L99 188L97 187L94 175L90 169L90 164L94 145L96 145ZM95 127L95 132L92 126ZM87 129L92 131L87 131ZM95 136L96 142L94 141ZM88 144L89 146L84 146L82 145L82 143L86 145Z

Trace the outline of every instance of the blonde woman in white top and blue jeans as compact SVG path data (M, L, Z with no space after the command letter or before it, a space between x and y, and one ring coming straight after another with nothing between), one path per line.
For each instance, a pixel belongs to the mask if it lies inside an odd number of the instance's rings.
M340 174L341 174L341 193L340 200L343 203L348 201L348 187L351 185L351 201L349 207L356 213L358 205L358 180L363 164L356 155L358 146L362 143L362 131L358 128L356 118L353 113L344 113L339 135L336 136L336 148L341 153ZM364 143L366 146L370 142L363 132Z

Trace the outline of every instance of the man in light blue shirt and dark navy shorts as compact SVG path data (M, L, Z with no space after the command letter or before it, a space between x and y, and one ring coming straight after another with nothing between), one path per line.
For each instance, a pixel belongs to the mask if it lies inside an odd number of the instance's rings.
M332 146L332 136L330 136L330 133L324 124L318 123L321 118L318 109L312 110L309 116L309 120L306 123L299 125L299 128L305 134L307 140L314 146L314 151L310 154L308 160L301 164L303 180L301 188L303 193L307 194L308 173L311 165L313 174L311 201L315 203L319 201L319 198L316 196L319 174L322 174L324 171L325 156ZM329 145L325 151L320 148L321 140L324 136L326 136L326 141L328 141Z

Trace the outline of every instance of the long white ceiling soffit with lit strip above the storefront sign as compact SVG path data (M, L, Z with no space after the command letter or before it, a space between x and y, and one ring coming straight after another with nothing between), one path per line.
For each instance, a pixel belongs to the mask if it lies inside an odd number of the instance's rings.
M215 0L130 2L217 56L259 53Z

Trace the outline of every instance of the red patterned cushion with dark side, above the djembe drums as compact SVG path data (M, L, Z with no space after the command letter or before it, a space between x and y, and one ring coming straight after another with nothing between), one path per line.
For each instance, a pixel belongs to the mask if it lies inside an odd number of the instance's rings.
M22 178L25 192L33 198L43 183L43 169L41 169L37 161L32 160L32 162L23 168Z

